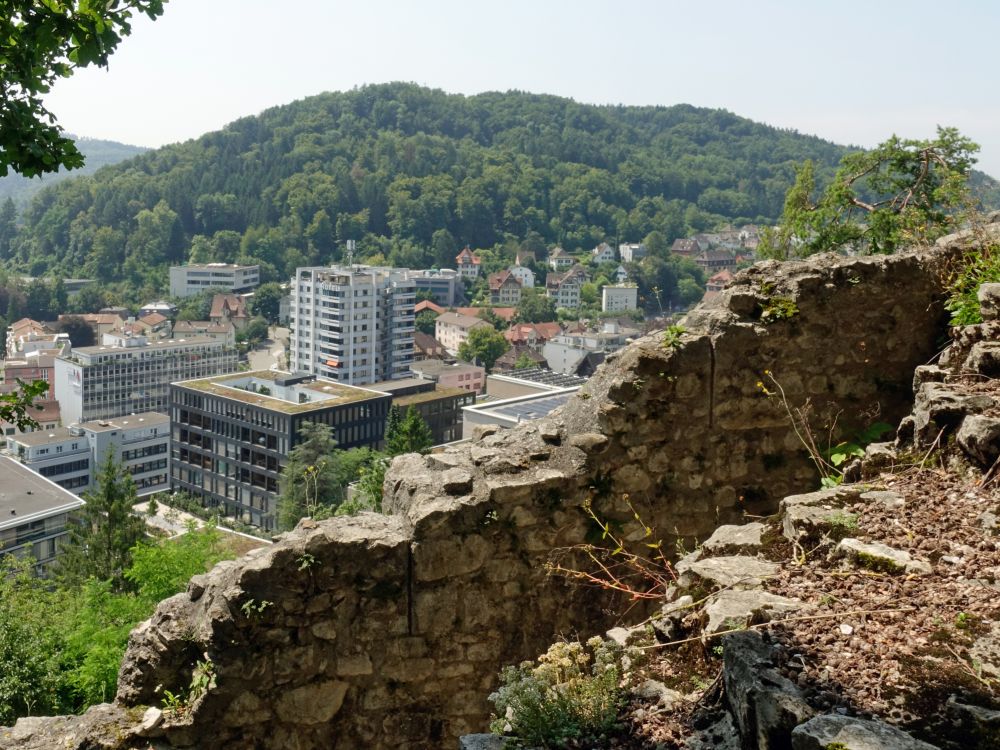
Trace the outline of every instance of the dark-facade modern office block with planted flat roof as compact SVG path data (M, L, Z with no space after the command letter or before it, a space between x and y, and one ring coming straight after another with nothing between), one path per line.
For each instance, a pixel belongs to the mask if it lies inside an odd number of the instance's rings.
M388 393L274 370L170 387L170 487L226 516L274 528L278 477L305 422L333 429L339 448L382 441Z

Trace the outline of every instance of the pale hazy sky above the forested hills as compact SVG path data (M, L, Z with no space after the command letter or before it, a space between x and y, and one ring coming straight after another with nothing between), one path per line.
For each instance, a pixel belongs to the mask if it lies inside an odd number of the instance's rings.
M1000 178L998 32L995 0L170 0L47 101L68 131L143 146L395 80L687 102L861 146L954 125Z

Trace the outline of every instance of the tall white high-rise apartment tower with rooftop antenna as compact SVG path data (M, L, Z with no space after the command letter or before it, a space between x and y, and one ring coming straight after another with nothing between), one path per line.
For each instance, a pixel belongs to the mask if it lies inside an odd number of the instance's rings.
M299 268L292 284L289 365L350 385L407 377L416 291L405 269Z

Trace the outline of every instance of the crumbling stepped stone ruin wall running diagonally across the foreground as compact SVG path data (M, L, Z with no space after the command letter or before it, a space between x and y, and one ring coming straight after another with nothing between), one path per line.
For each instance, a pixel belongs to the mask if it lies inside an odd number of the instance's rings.
M502 665L609 624L599 592L544 569L554 548L587 537L586 501L637 540L627 493L669 545L812 489L781 404L757 382L770 370L792 405L811 399L842 422L877 406L895 422L914 367L945 332L956 253L953 241L759 264L689 314L681 347L659 333L637 341L559 413L397 458L390 515L305 520L194 578L133 632L112 706L28 720L19 735L0 732L0 747L112 729L129 747L137 731L142 747L456 747L485 728ZM784 301L794 314L761 321ZM182 716L137 730L135 707L182 692L206 658L214 686Z

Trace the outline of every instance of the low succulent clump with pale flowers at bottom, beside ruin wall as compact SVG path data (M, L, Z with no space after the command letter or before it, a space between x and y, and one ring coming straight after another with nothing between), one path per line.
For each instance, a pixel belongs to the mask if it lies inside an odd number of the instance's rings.
M490 730L519 747L564 747L612 731L625 700L627 659L619 644L595 637L586 646L555 643L537 665L505 667L489 697L496 706Z

